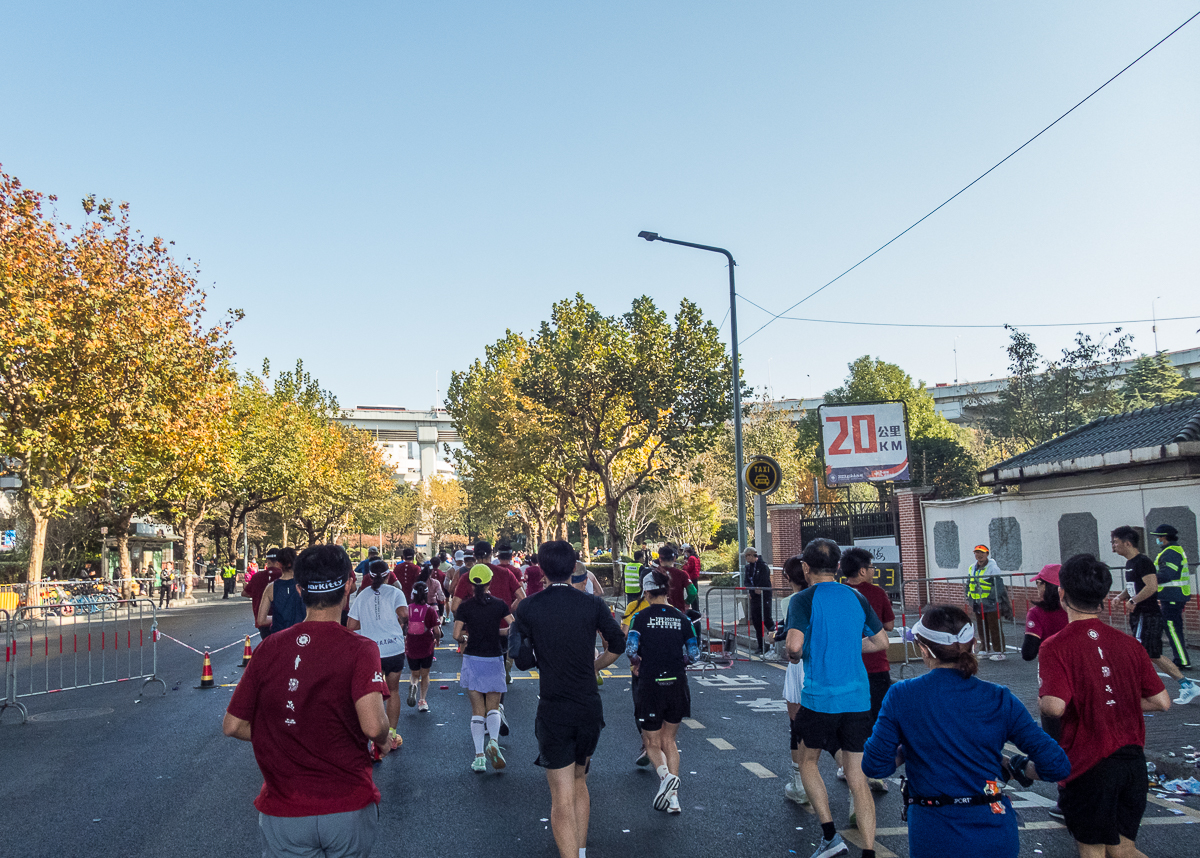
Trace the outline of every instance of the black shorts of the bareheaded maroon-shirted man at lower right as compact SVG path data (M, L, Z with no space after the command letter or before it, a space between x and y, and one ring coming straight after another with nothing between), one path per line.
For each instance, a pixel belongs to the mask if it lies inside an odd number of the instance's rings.
M1067 785L1058 793L1067 830L1081 844L1116 846L1138 838L1146 812L1146 755L1126 745Z

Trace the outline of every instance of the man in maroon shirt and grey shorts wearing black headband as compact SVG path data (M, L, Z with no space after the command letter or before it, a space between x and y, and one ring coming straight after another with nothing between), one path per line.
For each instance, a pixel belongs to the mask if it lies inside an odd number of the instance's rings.
M350 558L318 545L295 563L304 623L264 641L226 710L223 731L254 749L254 799L271 854L366 856L379 823L368 740L391 750L388 686L374 641L338 624Z

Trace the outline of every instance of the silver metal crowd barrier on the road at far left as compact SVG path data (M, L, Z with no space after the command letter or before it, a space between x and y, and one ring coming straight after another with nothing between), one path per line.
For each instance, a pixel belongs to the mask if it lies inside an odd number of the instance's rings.
M23 607L5 617L5 702L29 712L24 697L142 679L167 683L158 676L158 622L149 599L128 599L90 613L59 616L44 607Z

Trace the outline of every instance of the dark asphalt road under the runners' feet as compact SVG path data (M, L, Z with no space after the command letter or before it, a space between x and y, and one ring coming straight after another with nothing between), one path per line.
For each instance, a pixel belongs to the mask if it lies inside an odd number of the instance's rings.
M198 649L252 631L244 600L175 608L160 628ZM217 683L236 683L241 648L214 656ZM403 748L376 767L383 792L376 856L517 854L554 858L545 776L533 764L538 683L521 676L508 696L512 733L503 773L474 774L469 707L460 694L460 659L438 652L432 712L403 707ZM197 690L200 656L172 641L158 644L167 694L119 683L29 697L31 719L12 710L0 724L0 806L7 823L0 853L187 858L260 854L251 802L262 782L248 744L221 734L232 688ZM605 856L806 857L820 838L815 816L782 797L788 772L781 668L739 662L692 673L692 715L680 730L683 814L652 809L653 773L634 766L637 750L629 671L607 677L601 694L607 728L593 760L588 851ZM443 689L445 685L448 688ZM847 840L844 784L830 784L834 821ZM1021 854L1074 856L1067 832L1050 818L1054 787L1014 796L1025 830ZM1200 802L1152 797L1139 847L1150 856L1194 854ZM881 857L907 854L899 787L877 798ZM851 850L858 854L858 850Z

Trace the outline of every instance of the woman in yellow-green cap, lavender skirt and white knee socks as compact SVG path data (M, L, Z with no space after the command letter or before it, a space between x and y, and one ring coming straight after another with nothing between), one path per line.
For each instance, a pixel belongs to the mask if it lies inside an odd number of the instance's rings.
M505 620L511 623L512 616L509 605L488 592L492 583L491 568L476 563L470 568L468 580L474 586L475 594L464 599L455 611L454 637L460 643L463 640L467 642L458 684L467 689L467 697L470 698L470 738L475 743L475 760L470 769L487 770L487 763L484 762L486 757L492 768L499 770L505 766L497 742L500 736L499 706L500 695L508 688L504 682L500 624Z

